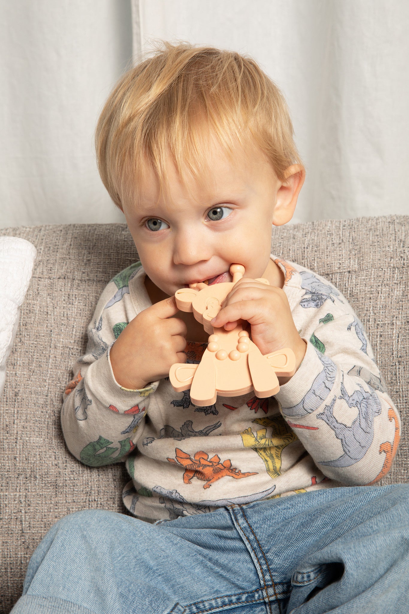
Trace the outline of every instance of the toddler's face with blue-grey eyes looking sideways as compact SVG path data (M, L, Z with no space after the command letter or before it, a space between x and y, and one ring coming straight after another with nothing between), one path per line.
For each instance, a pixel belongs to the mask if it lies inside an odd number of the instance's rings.
M295 204L283 217L280 201L288 188L262 152L252 148L245 154L238 146L235 153L232 163L215 145L201 182L189 179L186 185L169 160L167 199L162 196L156 205L159 184L150 172L138 187L137 202L124 204L142 266L167 296L221 273L225 275L218 281L232 281L228 272L232 263L245 266L245 277L273 276L272 267L277 265L270 260L272 223L291 219ZM279 216L275 216L277 201Z

